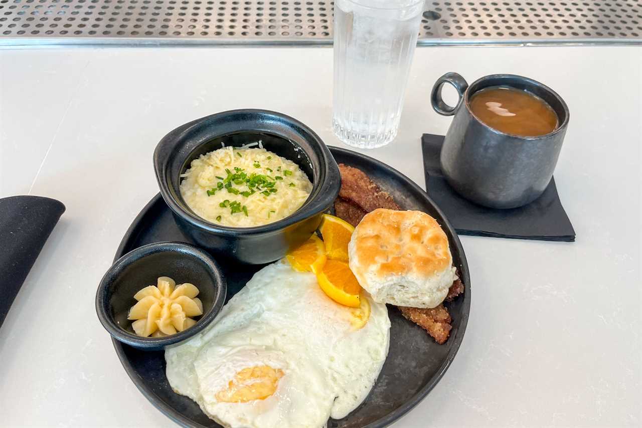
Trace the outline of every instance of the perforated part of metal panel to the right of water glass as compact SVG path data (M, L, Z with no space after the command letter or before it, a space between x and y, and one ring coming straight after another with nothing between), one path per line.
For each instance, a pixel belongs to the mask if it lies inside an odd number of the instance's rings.
M429 39L642 40L642 1L427 1Z

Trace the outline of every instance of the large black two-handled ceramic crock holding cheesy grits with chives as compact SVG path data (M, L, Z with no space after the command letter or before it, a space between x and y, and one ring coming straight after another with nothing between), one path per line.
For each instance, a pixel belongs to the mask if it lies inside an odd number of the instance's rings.
M192 160L225 146L261 140L266 150L299 165L313 184L308 200L290 216L257 227L225 227L197 216L180 195L180 175ZM154 168L160 194L187 237L234 261L262 264L283 257L317 230L341 186L339 168L308 126L268 110L230 110L179 126L159 142Z

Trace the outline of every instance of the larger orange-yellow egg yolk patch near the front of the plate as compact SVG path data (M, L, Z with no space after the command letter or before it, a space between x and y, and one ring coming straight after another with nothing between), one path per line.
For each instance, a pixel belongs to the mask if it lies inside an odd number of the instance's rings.
M234 379L228 382L227 389L216 393L216 399L226 403L247 403L252 400L265 400L276 390L283 370L270 366L254 366L239 370Z

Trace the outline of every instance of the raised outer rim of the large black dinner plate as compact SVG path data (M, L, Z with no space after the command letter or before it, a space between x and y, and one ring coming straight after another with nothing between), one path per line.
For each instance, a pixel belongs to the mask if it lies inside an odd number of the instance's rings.
M364 428L383 428L403 418L404 415L406 415L415 406L417 406L417 404L419 404L422 400L424 400L424 398L428 396L428 393L433 388L435 388L438 382L442 379L442 377L444 376L444 373L446 373L450 365L455 360L455 356L460 346L462 345L462 341L464 341L464 335L468 324L468 319L470 316L471 280L470 280L468 262L464 252L464 247L462 246L462 243L459 239L457 232L455 231L455 228L453 228L453 226L450 224L450 222L444 215L444 212L442 212L442 210L437 206L437 204L435 204L435 202L428 196L428 193L426 193L426 191L424 191L424 189L422 189L417 183L415 183L413 180L408 178L403 173L397 171L397 169L395 169L394 167L389 166L388 164L385 164L384 162L381 162L376 158L370 157L368 155L364 155L363 153L360 153L358 151L348 150L337 146L327 146L327 148L330 150L333 156L335 152L338 152L338 153L341 153L342 155L345 155L346 157L362 158L363 160L366 160L367 162L374 164L376 167L384 169L388 174L396 176L397 180L407 184L408 187L411 187L413 191L415 191L415 193L421 194L421 196L424 199L426 199L426 201L428 201L429 205L431 205L437 211L437 213L440 214L443 220L442 227L446 228L447 233L449 233L449 235L451 236L452 241L456 246L456 250L460 255L460 261L461 261L460 274L464 282L465 293L464 293L464 302L463 302L464 303L463 316L462 316L462 319L460 320L459 327L457 329L457 335L455 336L455 338L451 338L453 339L451 348L448 351L446 358L437 369L437 372L435 373L435 375L433 375L431 379L429 379L429 381L426 382L426 384L419 391L417 391L414 395L412 395L412 397L408 398L408 400L406 400L406 402L404 402L403 405L397 407L392 412L388 413L388 415L384 416L379 420L371 422L368 425L364 425ZM121 255L123 255L123 253L125 252L126 245L132 240L132 238L135 235L137 235L137 230L141 225L141 220L150 212L150 209L153 207L153 205L155 205L156 203L159 203L160 201L162 201L162 196L160 195L160 193L155 194L152 200L146 203L146 205L143 207L143 209L141 209L139 214L137 214L137 216L134 218L134 220L130 224L130 227L128 227L127 231L125 232L125 235L123 235L123 238L121 239L120 244L118 245L118 248L116 250L116 255L114 257L114 261L116 261L119 257L121 257ZM182 425L184 427L207 428L205 427L205 425L193 423L193 421L189 420L185 416L178 413L175 409L173 409L173 407L169 406L168 404L166 404L166 402L164 402L164 400L158 397L154 393L152 388L149 388L148 386L140 382L139 376L134 371L134 369L132 368L132 365L129 363L128 359L126 358L123 344L114 338L112 338L112 344L114 345L114 349L116 350L116 355L118 356L118 359L121 365L125 369L125 372L129 376L131 381L134 382L134 385L136 386L136 388L139 391L141 391L143 396L147 398L147 400L154 407L156 407L160 411L160 413L167 416L170 420L172 420L176 424Z

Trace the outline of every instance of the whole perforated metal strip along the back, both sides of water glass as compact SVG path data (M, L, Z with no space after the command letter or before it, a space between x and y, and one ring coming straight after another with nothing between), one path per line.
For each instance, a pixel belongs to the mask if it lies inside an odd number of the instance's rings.
M0 0L0 44L331 44L327 0ZM426 1L419 44L642 43L642 0Z

